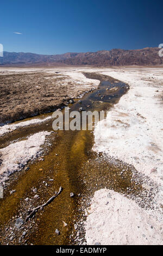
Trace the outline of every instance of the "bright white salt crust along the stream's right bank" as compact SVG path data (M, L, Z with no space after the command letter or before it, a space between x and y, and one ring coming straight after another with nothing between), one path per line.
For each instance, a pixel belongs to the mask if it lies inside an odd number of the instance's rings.
M87 218L87 244L162 244L163 70L117 68L102 74L127 82L130 90L111 109L106 122L103 120L95 127L93 150L132 164L156 182L159 192L154 198L155 210L149 212L116 192L111 192L113 197L106 206L110 191L97 191ZM144 186L151 189L147 184ZM160 222L155 221L155 229L151 229L154 220Z

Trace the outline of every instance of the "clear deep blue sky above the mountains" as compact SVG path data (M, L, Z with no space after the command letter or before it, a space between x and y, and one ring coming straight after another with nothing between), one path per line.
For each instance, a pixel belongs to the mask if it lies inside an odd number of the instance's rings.
M60 54L163 43L162 1L8 0L0 7L4 51Z

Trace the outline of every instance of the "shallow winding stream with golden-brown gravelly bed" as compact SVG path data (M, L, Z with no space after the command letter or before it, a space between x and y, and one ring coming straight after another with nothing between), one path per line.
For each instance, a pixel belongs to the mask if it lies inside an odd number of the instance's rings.
M127 84L114 78L92 73L85 75L87 78L99 79L101 83L96 90L81 99L82 103L75 99L74 104L68 105L70 112L79 111L80 107L87 111L109 110L128 90ZM42 117L49 115L52 113ZM52 119L8 133L1 137L1 147L45 130L52 131ZM121 192L127 192L127 187L133 187L134 190L135 184L131 183L131 170L128 166L93 153L92 131L57 131L51 133L47 140L48 143L43 146L42 161L37 159L33 163L29 162L28 170L12 174L4 190L4 198L0 199L2 245L83 244L84 221L87 216L85 208L89 206L93 193L104 187ZM126 174L122 179L120 173L124 168ZM21 228L15 227L16 218L22 217L25 220L28 209L45 203L60 186L63 191L51 204L37 211ZM16 192L10 194L11 190ZM135 193L138 190L137 187ZM70 197L71 192L74 197ZM35 194L39 198L34 199ZM74 224L77 224L75 228ZM55 233L56 229L60 235Z

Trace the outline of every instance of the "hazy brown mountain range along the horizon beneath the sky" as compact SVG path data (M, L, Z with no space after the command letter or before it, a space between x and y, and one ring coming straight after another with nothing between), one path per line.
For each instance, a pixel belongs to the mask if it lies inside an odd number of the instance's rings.
M0 57L0 66L123 66L123 65L161 65L163 57L159 57L159 48L143 48L140 50L112 49L97 52L67 52L57 55L43 55L23 52L4 52Z

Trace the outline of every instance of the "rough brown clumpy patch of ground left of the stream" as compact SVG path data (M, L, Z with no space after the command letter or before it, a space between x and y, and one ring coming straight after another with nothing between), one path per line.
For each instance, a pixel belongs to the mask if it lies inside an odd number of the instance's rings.
M82 93L70 77L46 72L0 76L0 124L54 111Z

